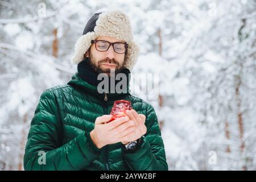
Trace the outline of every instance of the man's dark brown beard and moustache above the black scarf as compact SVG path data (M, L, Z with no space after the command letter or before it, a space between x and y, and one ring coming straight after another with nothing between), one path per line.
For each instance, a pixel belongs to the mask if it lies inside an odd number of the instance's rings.
M100 73L106 73L108 76L110 76L110 68L102 68L102 64L115 64L115 73L119 73L122 71L122 69L124 68L124 65L126 63L126 59L123 61L122 64L118 63L118 61L116 61L115 59L109 59L108 57L106 59L102 59L100 61L96 61L94 59L94 57L92 56L92 54L89 52L89 65L90 67L92 67L92 69L100 74Z

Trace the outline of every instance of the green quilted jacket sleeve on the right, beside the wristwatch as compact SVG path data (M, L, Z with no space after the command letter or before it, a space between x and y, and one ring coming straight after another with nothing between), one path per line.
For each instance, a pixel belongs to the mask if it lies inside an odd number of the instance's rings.
M147 133L135 151L122 148L123 156L130 169L135 171L168 170L164 144L155 110L148 105L146 115Z

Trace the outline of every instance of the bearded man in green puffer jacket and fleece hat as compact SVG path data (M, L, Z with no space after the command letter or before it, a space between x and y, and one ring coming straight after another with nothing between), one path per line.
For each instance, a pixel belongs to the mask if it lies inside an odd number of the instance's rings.
M168 170L153 107L129 92L98 92L97 76L112 71L128 76L138 52L124 13L96 13L89 19L72 58L78 72L67 85L47 89L40 97L24 169ZM129 91L129 85L122 91ZM109 122L116 100L130 101L133 110Z

